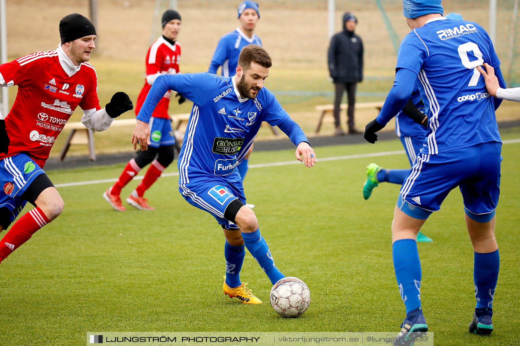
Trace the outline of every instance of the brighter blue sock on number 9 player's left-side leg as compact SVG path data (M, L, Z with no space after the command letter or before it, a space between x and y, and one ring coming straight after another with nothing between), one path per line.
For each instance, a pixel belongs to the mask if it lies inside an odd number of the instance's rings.
M392 245L395 276L406 313L421 308L421 262L414 239L396 240ZM408 317L407 317L408 318Z

